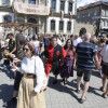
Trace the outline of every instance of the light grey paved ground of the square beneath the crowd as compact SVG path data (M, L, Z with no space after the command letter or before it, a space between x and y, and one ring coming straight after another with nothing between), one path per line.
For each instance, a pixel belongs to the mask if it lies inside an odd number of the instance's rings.
M104 99L102 97L103 92L98 90L102 85L98 72L93 72L87 98L83 105L78 103L81 94L75 92L77 87L76 71L75 77L68 80L66 86L63 85L60 78L58 84L53 85L53 79L51 75L50 84L45 92L46 108L108 108L108 98ZM10 79L10 76L0 69L0 108L5 108L3 103L12 97L13 83L14 80ZM15 106L11 108L15 108Z

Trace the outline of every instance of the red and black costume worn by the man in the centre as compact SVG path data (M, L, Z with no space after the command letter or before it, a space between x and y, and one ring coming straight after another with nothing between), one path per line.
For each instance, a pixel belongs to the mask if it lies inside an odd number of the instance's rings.
M50 44L46 46L44 55L48 58L48 63L45 65L46 76L50 73L51 70L53 71L54 75L58 75L60 69L59 67L60 59L66 56L64 48L62 48L58 44L54 48L52 46L52 44Z

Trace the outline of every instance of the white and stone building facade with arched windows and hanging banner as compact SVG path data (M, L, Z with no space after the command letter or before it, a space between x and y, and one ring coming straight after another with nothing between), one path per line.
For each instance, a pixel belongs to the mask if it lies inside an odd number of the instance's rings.
M15 2L17 5L15 5ZM23 5L22 9L21 5ZM44 10L41 11L42 9ZM44 13L45 9L48 12ZM42 25L39 28L29 28L24 32L26 35L71 35L73 33L76 14L77 0L0 0L0 23L35 23ZM13 28L0 27L1 35L11 31L15 32Z

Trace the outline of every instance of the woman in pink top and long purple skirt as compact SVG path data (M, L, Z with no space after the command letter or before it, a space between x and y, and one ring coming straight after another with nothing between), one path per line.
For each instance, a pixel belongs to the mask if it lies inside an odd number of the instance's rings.
M64 65L60 70L60 77L63 78L64 84L67 84L67 79L69 77L73 77L73 64L75 64L75 49L72 46L70 39L67 40L64 49L67 53L67 56L64 59Z

